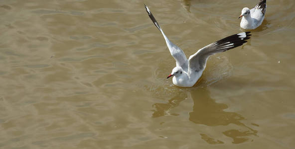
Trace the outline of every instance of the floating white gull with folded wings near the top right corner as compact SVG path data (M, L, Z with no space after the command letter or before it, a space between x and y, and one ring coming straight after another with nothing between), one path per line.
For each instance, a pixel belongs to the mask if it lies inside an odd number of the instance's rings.
M242 9L239 16L242 17L240 26L244 29L255 29L261 25L266 11L266 0L260 0L259 3L252 9L247 7Z

